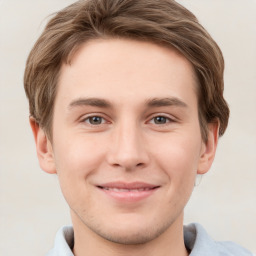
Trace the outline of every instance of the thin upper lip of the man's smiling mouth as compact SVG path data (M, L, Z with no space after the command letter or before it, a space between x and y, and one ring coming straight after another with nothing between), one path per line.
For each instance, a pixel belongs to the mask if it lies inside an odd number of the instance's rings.
M145 182L109 182L97 185L99 188L117 188L117 189L154 189L159 185L149 184Z

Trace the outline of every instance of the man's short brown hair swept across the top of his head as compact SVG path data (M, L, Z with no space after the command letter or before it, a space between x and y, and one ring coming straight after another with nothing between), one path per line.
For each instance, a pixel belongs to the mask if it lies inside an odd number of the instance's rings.
M207 123L216 120L219 135L225 132L229 108L223 98L223 56L190 11L174 0L80 0L48 22L26 64L24 87L30 115L50 138L61 65L82 43L107 37L146 40L183 54L198 80L202 138L207 140Z

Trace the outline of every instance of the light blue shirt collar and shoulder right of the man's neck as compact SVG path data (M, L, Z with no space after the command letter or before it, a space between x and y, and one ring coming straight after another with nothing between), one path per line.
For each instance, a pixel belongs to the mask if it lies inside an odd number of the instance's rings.
M184 226L184 240L190 256L253 256L251 252L233 242L214 241L198 223Z

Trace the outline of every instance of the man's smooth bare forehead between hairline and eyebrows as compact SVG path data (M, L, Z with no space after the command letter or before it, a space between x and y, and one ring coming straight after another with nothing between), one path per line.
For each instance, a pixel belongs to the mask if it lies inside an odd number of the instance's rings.
M184 90L196 97L197 80L191 63L176 50L136 40L96 39L62 65L57 98L180 98Z

